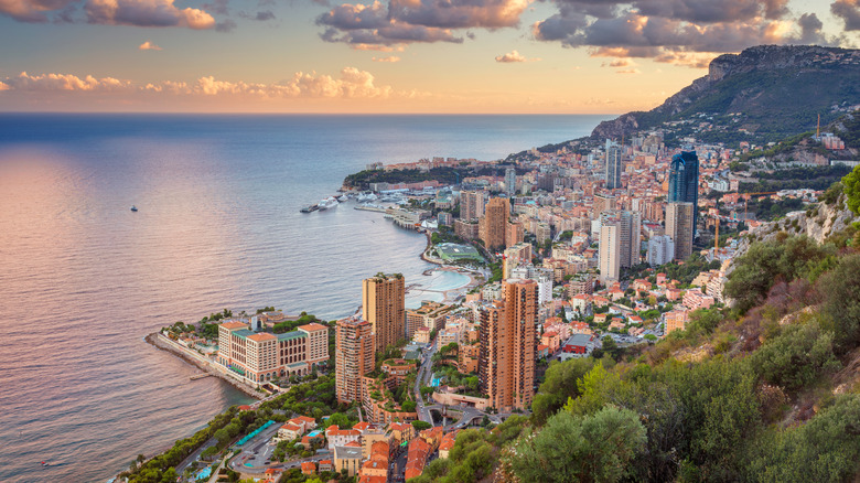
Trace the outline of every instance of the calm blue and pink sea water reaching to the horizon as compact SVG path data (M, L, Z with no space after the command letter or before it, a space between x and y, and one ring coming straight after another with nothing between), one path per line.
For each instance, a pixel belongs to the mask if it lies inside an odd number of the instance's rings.
M379 214L299 213L346 174L498 159L604 118L0 115L0 481L104 481L248 401L146 344L161 326L265 305L335 319L380 270L458 282L422 276L424 237Z

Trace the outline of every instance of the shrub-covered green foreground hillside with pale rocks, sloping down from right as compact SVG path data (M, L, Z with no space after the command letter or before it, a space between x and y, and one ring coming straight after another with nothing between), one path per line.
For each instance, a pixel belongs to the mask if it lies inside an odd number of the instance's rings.
M529 418L466 430L424 482L856 482L860 168L734 259L733 307L552 363Z

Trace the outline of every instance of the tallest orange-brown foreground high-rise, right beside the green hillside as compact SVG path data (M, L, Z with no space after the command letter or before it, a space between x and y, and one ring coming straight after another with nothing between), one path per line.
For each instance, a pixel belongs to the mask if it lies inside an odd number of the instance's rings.
M504 300L481 311L479 378L490 405L527 409L535 393L537 283L506 280Z

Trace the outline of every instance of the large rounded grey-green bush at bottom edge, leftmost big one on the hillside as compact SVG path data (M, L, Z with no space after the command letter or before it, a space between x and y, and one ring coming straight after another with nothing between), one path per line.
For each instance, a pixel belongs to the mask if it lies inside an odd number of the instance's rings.
M519 440L510 465L520 481L616 482L631 474L645 442L645 427L628 409L608 406L587 417L562 411Z

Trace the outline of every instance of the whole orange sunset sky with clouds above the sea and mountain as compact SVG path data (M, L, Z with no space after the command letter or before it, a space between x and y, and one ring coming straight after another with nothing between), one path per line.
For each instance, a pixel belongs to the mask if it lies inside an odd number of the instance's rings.
M760 44L860 0L0 0L0 111L620 114Z

